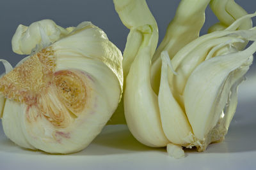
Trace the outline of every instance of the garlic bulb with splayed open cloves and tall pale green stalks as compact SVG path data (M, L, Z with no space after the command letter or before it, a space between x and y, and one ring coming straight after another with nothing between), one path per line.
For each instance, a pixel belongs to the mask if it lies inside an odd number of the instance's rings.
M236 31L256 13L244 14L223 31L198 37L210 1L196 2L180 2L156 50L157 25L145 0L114 0L122 22L131 29L123 61L127 125L138 141L166 146L176 158L184 157L182 147L195 146L202 152L224 139L236 111L237 86L256 51L256 43L241 50L247 41L255 41L256 28L247 24L246 30ZM182 11L189 13L181 15Z

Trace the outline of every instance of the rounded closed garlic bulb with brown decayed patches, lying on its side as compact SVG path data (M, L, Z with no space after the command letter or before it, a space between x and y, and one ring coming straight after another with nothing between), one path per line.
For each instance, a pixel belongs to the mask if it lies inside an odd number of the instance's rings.
M0 79L6 136L49 153L88 146L120 101L120 50L91 22L64 29L51 20L19 26L12 45L31 55Z

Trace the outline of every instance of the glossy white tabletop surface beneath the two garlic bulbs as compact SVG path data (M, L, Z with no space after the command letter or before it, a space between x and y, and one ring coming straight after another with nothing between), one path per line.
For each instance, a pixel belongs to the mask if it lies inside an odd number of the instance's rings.
M254 76L253 76L254 74ZM125 125L105 127L93 143L71 155L24 150L0 132L0 169L256 169L256 73L239 88L239 104L225 141L203 153L186 150L184 159L165 148L143 146Z

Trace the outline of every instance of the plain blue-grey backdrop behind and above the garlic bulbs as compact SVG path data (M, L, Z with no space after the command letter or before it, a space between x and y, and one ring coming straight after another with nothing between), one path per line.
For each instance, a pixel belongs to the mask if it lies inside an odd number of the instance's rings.
M256 10L255 0L236 0L248 13ZM156 18L159 27L159 42L163 39L166 27L175 15L179 0L147 0L148 6ZM29 25L45 18L52 19L62 27L76 26L82 21L92 21L103 29L108 38L124 51L129 30L124 27L115 12L112 0L0 0L0 59L8 60L13 66L24 55L12 52L12 36L19 24ZM255 22L255 19L253 19ZM218 22L209 7L201 34L205 34L210 25ZM253 64L253 70L256 70ZM0 65L0 73L3 73ZM255 72L254 72L255 73Z

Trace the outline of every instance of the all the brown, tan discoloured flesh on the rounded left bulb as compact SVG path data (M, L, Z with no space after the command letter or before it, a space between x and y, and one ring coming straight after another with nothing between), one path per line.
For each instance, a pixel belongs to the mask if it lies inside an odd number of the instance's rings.
M26 104L28 122L45 117L54 127L67 127L74 119L70 111L77 116L84 109L86 88L76 71L55 70L56 57L49 46L4 75L0 92Z

